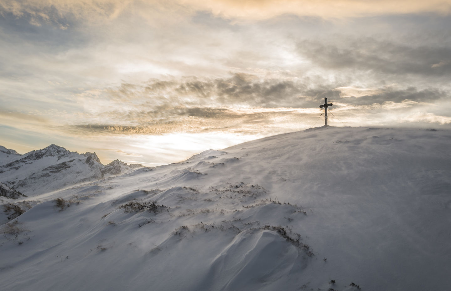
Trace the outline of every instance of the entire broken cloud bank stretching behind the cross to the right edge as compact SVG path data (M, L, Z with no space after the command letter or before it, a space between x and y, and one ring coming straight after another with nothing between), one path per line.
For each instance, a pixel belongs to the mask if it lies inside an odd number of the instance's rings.
M313 124L327 96L334 112L353 116L426 108L449 98L444 90L396 84L363 87L314 86L308 79L260 78L236 73L225 78L168 77L123 83L79 95L89 114L64 126L74 135L164 135L174 132L281 132ZM335 89L334 89L335 88ZM97 106L95 105L97 103ZM346 119L346 118L345 118ZM347 119L346 119L347 120ZM352 120L347 121L353 123ZM311 126L310 124L310 126Z

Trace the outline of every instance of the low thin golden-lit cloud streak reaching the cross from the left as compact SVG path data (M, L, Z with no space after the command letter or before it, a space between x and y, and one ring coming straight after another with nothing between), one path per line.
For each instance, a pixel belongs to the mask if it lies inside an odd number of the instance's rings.
M127 112L127 118L115 116L122 124L79 124L63 127L62 130L76 135L161 135L173 132L261 132L267 124L305 119L309 114L316 115L317 109L293 108L176 108L166 109L161 114L165 118L155 118L154 112ZM136 122L138 121L138 122ZM137 125L125 125L136 122Z

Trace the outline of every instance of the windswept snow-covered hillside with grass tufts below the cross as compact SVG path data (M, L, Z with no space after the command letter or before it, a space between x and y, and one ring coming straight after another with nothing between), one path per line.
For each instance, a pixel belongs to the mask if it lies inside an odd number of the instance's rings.
M2 289L448 290L450 144L317 127L53 192L38 178L4 206L28 211L1 226Z

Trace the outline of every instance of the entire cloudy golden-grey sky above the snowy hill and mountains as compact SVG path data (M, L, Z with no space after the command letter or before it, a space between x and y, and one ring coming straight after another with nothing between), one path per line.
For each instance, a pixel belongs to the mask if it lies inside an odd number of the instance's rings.
M451 0L2 0L0 145L145 166L324 124L451 128Z

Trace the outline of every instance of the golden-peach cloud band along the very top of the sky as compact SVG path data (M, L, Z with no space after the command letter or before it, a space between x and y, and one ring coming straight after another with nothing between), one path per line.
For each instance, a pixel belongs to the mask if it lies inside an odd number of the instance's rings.
M211 11L215 15L238 20L261 20L283 14L322 18L364 17L382 14L437 13L449 15L451 0L3 0L1 11L16 16L28 14L30 23L55 22L71 14L91 23L118 18L133 11L149 20L156 14L192 15L195 11ZM56 12L55 12L56 10ZM169 21L165 18L165 21ZM58 23L58 21L56 21ZM62 25L62 29L66 26Z

